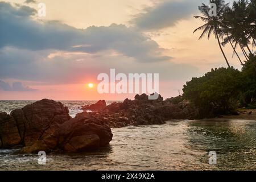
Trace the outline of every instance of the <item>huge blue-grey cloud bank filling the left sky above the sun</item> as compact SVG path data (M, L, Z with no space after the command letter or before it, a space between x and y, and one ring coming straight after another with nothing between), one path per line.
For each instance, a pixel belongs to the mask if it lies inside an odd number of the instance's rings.
M0 2L2 80L81 84L110 68L160 73L162 80L183 80L198 72L193 65L172 63L154 40L134 27L112 24L80 30L57 21L38 22L31 18L33 12Z

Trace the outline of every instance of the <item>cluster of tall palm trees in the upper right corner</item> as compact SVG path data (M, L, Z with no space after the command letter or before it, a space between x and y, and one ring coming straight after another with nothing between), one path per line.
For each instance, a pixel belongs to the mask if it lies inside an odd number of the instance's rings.
M194 17L202 20L204 24L196 28L194 32L202 31L199 39L204 36L207 36L208 39L210 35L215 36L228 67L230 64L222 46L230 44L233 54L236 53L238 60L243 65L237 49L242 51L246 60L249 60L249 55L253 55L251 47L256 47L256 0L238 0L232 4L225 3L224 0L209 0L209 3L216 4L217 16L209 15L210 7L202 3L199 6L201 16Z

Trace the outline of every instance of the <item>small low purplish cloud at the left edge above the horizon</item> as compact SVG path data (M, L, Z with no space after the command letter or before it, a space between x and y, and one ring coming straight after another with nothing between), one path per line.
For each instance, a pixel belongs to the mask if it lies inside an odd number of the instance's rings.
M28 92L35 91L36 89L31 89L28 86L23 86L22 82L14 82L13 85L10 85L5 81L0 80L0 90Z

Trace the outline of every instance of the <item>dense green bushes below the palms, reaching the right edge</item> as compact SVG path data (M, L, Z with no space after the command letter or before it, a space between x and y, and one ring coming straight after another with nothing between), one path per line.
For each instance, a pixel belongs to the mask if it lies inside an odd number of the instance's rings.
M256 106L256 55L251 55L242 71L216 68L192 78L183 88L183 97L191 101L202 117L226 114L238 106ZM240 103L240 104L239 104Z

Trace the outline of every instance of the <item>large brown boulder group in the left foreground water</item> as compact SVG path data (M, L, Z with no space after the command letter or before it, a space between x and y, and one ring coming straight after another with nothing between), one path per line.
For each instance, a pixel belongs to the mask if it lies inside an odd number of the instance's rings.
M0 147L23 147L22 152L44 151L79 152L109 144L110 127L89 113L69 116L61 102L41 100L0 113Z

